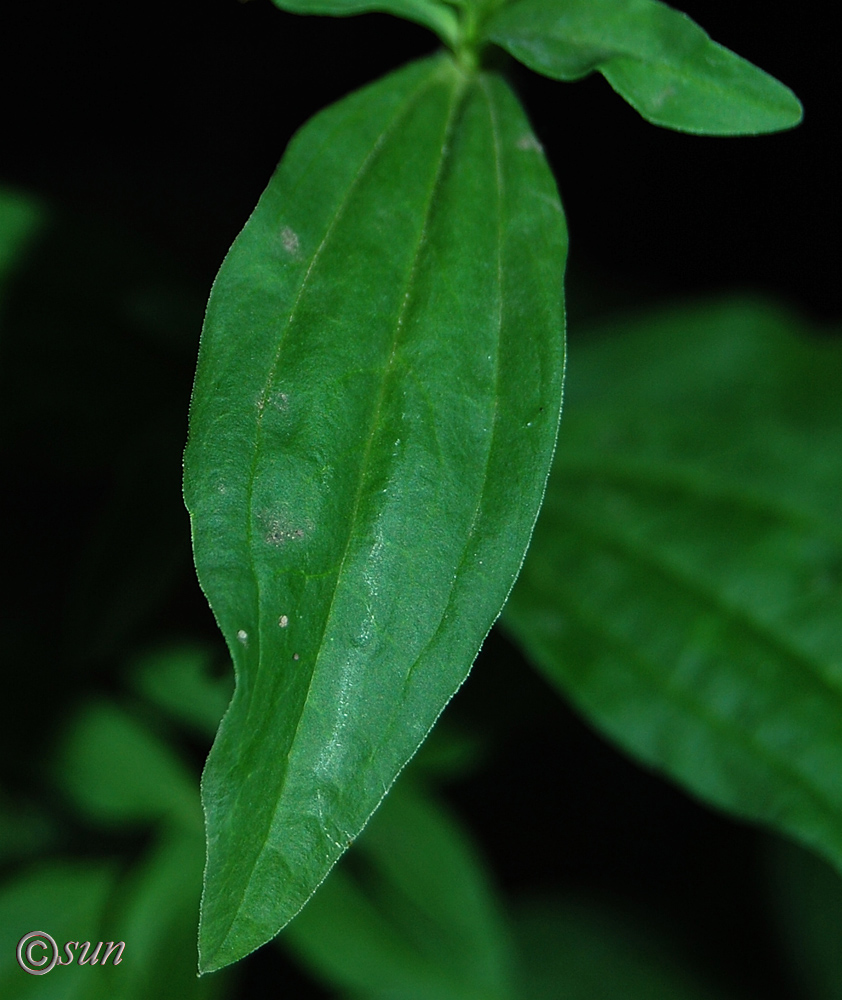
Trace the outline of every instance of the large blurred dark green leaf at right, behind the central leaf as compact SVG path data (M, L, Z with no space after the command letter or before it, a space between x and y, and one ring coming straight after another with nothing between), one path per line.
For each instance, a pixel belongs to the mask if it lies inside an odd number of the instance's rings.
M749 301L603 332L505 623L620 746L842 866L842 348Z

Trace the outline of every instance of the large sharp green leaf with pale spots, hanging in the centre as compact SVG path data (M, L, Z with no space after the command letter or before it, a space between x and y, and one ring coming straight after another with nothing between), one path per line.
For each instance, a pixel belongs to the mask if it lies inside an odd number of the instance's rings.
M499 614L556 436L565 250L506 84L440 56L310 122L229 253L185 454L237 676L203 969L304 905Z

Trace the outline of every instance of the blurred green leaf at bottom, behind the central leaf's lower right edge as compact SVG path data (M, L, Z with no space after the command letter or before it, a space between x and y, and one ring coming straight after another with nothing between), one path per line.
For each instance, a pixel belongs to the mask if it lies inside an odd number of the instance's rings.
M328 984L365 996L509 995L509 942L473 848L405 780L279 942Z

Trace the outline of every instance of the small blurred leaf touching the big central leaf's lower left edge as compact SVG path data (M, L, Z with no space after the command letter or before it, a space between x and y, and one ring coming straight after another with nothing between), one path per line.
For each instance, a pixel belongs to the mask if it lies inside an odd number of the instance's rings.
M212 650L204 646L169 646L137 658L130 683L138 694L199 733L213 736L225 714L234 684L230 675L215 677Z

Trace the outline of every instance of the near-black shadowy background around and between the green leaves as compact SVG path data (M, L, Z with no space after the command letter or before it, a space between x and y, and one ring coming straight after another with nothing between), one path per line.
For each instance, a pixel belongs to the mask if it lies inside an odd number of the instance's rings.
M568 215L574 361L580 323L676 297L758 290L839 322L827 5L682 9L792 87L805 120L780 135L701 139L648 125L600 77L515 73ZM15 794L39 787L68 704L119 692L132 650L217 642L179 494L204 297L292 132L434 47L385 15L300 18L268 0L4 5L0 183L60 212L18 276L0 341L0 556L13 584L0 779ZM754 830L618 755L502 636L450 713L488 747L450 797L506 893L631 902L744 996L799 995ZM205 749L192 748L197 767ZM273 949L249 963L243 997L274 996L289 975ZM290 995L309 989L284 981Z

